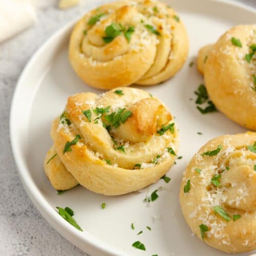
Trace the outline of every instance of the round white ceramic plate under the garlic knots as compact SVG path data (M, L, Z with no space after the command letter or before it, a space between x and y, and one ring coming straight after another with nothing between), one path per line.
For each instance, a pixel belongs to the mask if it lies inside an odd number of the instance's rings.
M102 2L88 1L88 10ZM97 195L81 186L57 195L50 185L42 165L52 145L49 135L52 120L61 113L69 95L86 91L100 93L83 84L69 65L68 40L73 24L58 31L37 51L17 84L10 134L20 178L47 221L63 237L90 254L225 255L191 236L179 205L180 182L190 158L205 142L245 130L221 113L202 115L196 109L194 91L203 78L196 65L190 68L189 62L195 62L200 47L216 41L231 26L255 23L256 13L242 5L223 1L173 0L168 3L178 11L187 28L189 57L174 78L159 86L142 88L167 104L180 129L179 156L183 158L169 171L172 180L168 184L159 180L143 193L118 197ZM142 202L146 191L151 193L159 186L166 189L159 191L159 198L147 207ZM102 202L106 203L104 210ZM63 220L55 206L71 207L84 231L78 231ZM135 230L131 229L131 223ZM140 230L143 233L137 236ZM132 247L137 240L144 243L146 251Z

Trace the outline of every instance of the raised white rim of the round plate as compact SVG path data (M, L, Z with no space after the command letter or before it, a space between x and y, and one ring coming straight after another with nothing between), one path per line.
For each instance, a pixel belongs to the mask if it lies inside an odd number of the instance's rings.
M250 11L256 14L256 9L246 5L241 2L231 2L230 0L203 0L204 2L217 2L219 4L226 4L229 6L236 6L241 9ZM113 1L111 1L113 2ZM84 5L86 6L86 5ZM73 228L67 221L62 218L59 218L57 211L50 205L50 203L41 195L39 188L34 183L32 177L29 174L29 168L26 167L24 162L24 157L22 153L19 151L19 143L15 140L15 108L16 102L18 99L18 93L20 89L23 87L23 80L25 79L27 73L29 73L30 68L33 65L33 62L38 58L41 52L44 51L45 48L51 42L60 36L61 34L70 30L74 24L77 22L77 18L69 22L68 24L60 27L55 32L53 32L48 39L46 39L40 47L32 54L28 62L26 63L25 68L20 73L19 78L16 82L16 87L11 100L11 108L10 108L10 118L9 118L9 135L11 148L13 153L13 158L17 167L17 173L19 175L20 180L26 190L27 195L35 205L36 209L40 212L40 214L44 217L44 219L65 239L69 242L80 248L84 251L84 247L86 248L87 253L94 254L97 252L97 255L125 255L124 252L119 251L118 249L113 248L107 243L99 243L98 239L95 238L91 233L86 230L83 231L83 234L79 230ZM35 89L36 90L36 89ZM33 101L33 100L32 100ZM84 247L79 245L79 242L82 242ZM100 253L100 254L99 254Z

